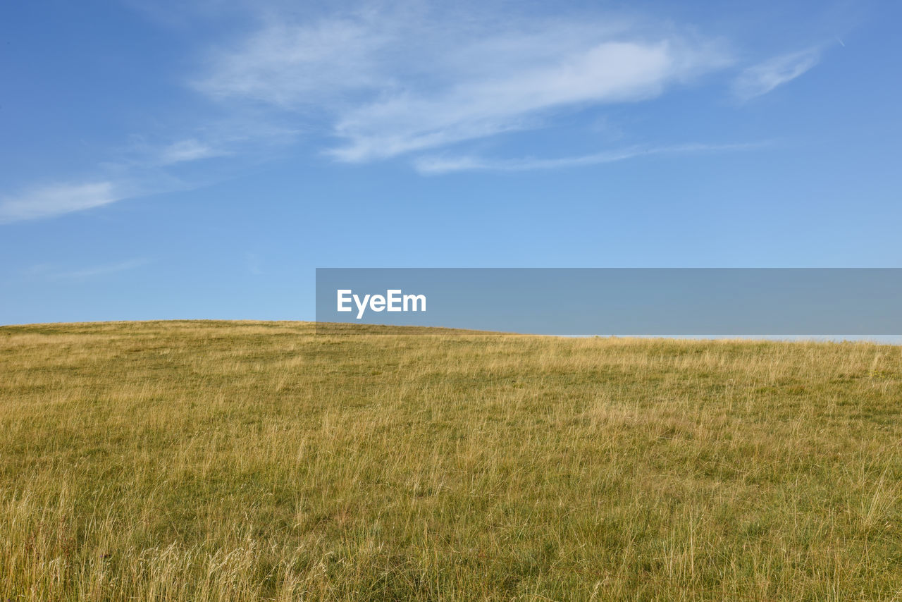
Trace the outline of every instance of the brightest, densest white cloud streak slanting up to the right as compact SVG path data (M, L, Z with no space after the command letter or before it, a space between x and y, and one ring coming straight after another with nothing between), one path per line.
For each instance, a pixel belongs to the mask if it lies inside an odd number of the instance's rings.
M602 42L553 64L464 81L440 95L401 94L344 116L336 133L348 144L332 154L348 162L381 159L520 129L566 107L655 97L719 60L689 58L692 53L671 41Z

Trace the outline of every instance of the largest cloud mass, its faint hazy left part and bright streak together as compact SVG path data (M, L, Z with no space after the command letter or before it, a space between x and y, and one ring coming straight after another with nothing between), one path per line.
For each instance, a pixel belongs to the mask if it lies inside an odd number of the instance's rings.
M365 162L656 97L730 63L718 44L600 15L412 13L268 23L213 55L195 85L222 100L325 116L343 141L328 153Z

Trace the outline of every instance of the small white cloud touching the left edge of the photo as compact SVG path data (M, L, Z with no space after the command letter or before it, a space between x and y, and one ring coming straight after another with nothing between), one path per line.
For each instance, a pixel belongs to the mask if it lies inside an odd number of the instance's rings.
M110 181L47 186L20 196L0 198L0 223L50 218L108 205L120 199L124 199L124 195Z

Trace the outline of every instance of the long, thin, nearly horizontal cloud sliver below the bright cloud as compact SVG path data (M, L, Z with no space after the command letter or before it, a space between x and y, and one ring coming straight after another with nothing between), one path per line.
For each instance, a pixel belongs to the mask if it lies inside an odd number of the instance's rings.
M422 157L414 162L414 166L422 174L436 175L453 171L530 171L554 170L566 167L582 167L626 161L655 154L684 154L704 152L748 151L762 148L769 143L750 144L677 144L673 146L633 146L604 153L584 154L575 157L558 159L538 159L527 157L522 159L485 159L474 156L460 157Z

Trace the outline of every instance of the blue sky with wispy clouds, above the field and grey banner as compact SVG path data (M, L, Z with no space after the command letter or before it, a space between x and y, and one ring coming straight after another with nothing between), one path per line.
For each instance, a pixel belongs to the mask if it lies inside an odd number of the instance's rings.
M902 5L0 9L0 323L317 266L902 267Z

